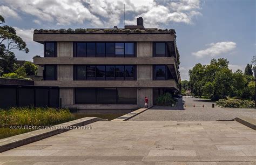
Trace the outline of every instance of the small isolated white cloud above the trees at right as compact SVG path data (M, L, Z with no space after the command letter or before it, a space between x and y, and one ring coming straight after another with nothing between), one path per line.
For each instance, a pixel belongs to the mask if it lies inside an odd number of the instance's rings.
M237 47L237 44L234 42L220 42L220 43L211 43L206 46L209 46L205 50L200 50L198 52L193 52L192 54L196 57L202 58L204 56L217 56L219 54L228 53Z

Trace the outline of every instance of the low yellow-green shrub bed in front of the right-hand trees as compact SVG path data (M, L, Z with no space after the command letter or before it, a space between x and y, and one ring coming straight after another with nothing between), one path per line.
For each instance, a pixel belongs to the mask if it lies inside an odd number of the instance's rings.
M241 99L220 99L216 101L216 104L230 108L253 108L255 106L254 101Z

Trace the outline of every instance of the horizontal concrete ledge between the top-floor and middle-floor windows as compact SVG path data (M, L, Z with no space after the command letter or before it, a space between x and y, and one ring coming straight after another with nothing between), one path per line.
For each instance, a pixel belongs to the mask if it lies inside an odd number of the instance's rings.
M134 57L134 58L111 58L111 57L35 57L33 63L37 65L175 65L174 57ZM176 66L174 66L176 68Z

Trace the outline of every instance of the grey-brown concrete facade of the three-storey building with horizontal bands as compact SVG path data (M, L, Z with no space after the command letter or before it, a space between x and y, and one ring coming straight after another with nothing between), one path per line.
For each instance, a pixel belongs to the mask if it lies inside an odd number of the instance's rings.
M119 34L119 33L86 33L86 34L51 34L34 33L33 40L45 45L48 42L55 42L55 57L36 57L34 63L38 65L57 66L55 80L35 81L38 86L58 86L60 87L59 96L62 99L62 107L76 109L136 109L144 106L144 97L149 98L149 106L153 105L153 90L163 88L172 91L179 90L180 76L177 65L177 52L169 57L153 57L153 44L161 42L175 45L174 35L169 32L159 33L139 33L139 34ZM93 42L116 42L116 43L134 43L134 57L75 57L75 43ZM106 45L106 44L105 44ZM105 46L105 50L107 47ZM117 48L116 48L117 49ZM116 50L117 51L117 50ZM167 50L166 50L167 51ZM133 65L133 80L75 80L75 66L79 65ZM166 72L170 74L169 79L154 80L154 67L165 65ZM105 70L106 71L106 70ZM126 71L126 70L125 70ZM105 76L104 72L104 76ZM86 70L86 74L87 70ZM96 74L96 73L95 73ZM126 73L125 73L126 74ZM166 73L167 74L167 73ZM76 88L136 88L137 101L132 104L77 104ZM97 90L97 89L96 89ZM82 93L83 95L83 93ZM129 97L129 93L122 94L123 98ZM93 96L92 96L93 97ZM117 96L120 97L120 94ZM79 99L78 99L79 100Z

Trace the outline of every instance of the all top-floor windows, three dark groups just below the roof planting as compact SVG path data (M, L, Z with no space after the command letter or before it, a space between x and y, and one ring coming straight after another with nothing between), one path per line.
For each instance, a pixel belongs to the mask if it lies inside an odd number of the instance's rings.
M73 43L73 57L136 57L136 43ZM153 57L175 54L173 42L153 43ZM44 57L57 57L57 43L44 44Z

